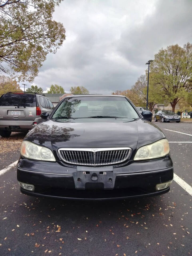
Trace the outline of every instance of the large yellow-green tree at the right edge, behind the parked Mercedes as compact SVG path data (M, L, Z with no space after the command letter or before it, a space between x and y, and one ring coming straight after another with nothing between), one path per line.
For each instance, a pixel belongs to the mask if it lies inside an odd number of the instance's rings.
M176 104L192 90L189 80L192 76L192 44L183 47L171 45L155 54L151 63L155 83L175 111Z

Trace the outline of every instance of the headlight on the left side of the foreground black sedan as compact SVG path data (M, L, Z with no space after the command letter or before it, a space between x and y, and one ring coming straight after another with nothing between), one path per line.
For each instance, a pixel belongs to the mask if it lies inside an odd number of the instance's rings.
M55 157L47 147L38 146L30 141L23 141L21 144L21 155L26 158L55 162Z

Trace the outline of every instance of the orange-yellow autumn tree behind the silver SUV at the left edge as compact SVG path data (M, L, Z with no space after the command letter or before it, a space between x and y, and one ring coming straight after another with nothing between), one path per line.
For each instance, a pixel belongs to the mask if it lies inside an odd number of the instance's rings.
M0 97L2 94L11 91L22 91L17 81L6 77L5 75L0 75Z

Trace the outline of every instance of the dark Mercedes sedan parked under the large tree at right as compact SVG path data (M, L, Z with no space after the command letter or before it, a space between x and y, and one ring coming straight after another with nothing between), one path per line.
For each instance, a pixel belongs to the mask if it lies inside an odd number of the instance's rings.
M171 110L159 110L154 117L154 121L161 121L161 122L177 122L179 123L181 121L181 116L175 114L173 111Z

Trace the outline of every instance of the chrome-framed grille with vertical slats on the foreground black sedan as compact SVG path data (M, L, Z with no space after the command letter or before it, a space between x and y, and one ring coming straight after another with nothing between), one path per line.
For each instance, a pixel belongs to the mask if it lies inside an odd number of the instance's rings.
M75 165L110 165L127 160L130 147L100 149L59 149L61 159Z

